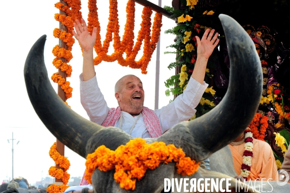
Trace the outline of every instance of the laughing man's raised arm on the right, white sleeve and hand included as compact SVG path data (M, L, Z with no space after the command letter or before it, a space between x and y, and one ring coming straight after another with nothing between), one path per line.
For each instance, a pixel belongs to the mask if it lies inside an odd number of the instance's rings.
M204 83L203 80L208 59L219 42L217 36L218 33L214 35L214 30L210 32L209 29L204 32L201 40L196 36L198 58L186 89L172 103L155 111L160 119L163 132L181 121L192 118L196 113L195 108L204 90L208 87L208 84Z

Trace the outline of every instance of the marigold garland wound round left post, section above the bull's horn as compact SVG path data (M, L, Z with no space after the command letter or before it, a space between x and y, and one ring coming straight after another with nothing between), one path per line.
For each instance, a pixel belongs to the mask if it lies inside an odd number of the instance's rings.
M75 39L73 38L73 29L74 29L74 22L76 19L81 19L82 15L80 12L81 9L81 2L80 0L64 0L67 5L64 5L63 3L57 2L55 4L55 7L64 12L66 15L61 14L55 14L54 18L61 22L66 28L66 31L61 31L60 29L56 28L53 30L53 36L55 38L59 38L62 40L66 46L65 48L60 48L59 45L56 45L52 53L56 57L53 59L52 63L57 69L61 69L62 72L65 72L67 77L70 77L72 74L72 66L67 64L72 58L73 55L71 53L72 46L75 43ZM63 62L61 58L66 59L66 62ZM61 86L61 89L65 92L65 100L72 97L72 91L73 88L71 88L70 82L66 81L65 78L63 78L60 74L55 73L51 76L51 79L53 82L58 83Z

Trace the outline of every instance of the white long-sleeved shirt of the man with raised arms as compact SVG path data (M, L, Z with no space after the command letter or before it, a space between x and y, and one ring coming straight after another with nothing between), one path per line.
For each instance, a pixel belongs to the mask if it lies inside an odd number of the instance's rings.
M104 99L96 76L88 81L83 81L82 74L80 78L80 101L86 110L91 121L102 125L104 120L107 118L109 107ZM174 125L181 121L188 120L196 113L195 107L198 105L204 90L208 87L208 84L203 82L200 84L195 79L189 79L188 85L184 90L183 94L179 95L173 102L156 109L156 113L162 133L172 128ZM129 133L131 126L134 124L136 117L131 116L129 113L122 112L123 122L122 130ZM119 127L120 120L117 120L115 127ZM150 134L145 127L145 123L142 115L137 120L137 123L131 133L133 137L150 138Z

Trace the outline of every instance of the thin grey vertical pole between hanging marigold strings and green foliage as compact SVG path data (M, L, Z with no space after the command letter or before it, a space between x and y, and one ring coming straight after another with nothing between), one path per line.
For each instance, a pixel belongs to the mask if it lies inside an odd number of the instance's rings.
M162 5L162 0L158 0L158 6L161 7L161 5ZM161 42L161 34L159 36L159 41L157 43L157 49L156 49L155 105L154 105L154 109L158 109L158 102L159 102L160 42Z

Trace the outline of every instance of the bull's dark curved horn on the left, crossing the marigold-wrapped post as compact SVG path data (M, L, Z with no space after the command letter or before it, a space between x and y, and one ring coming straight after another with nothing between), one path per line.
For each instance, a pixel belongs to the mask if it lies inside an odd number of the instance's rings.
M24 66L27 92L33 108L47 129L68 148L86 158L88 139L103 127L63 103L52 88L44 62L46 35L32 46Z

